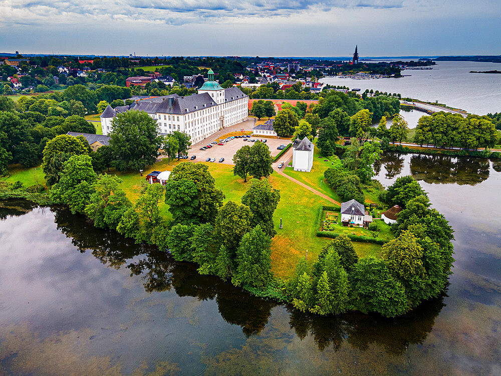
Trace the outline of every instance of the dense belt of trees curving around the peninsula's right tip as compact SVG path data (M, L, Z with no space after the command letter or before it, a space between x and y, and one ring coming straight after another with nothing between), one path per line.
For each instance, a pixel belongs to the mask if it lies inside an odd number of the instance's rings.
M447 220L430 209L426 193L410 176L398 178L382 199L403 208L392 227L396 238L383 246L382 258L359 260L348 237L338 236L312 266L298 263L286 289L296 308L394 317L445 289L453 262Z

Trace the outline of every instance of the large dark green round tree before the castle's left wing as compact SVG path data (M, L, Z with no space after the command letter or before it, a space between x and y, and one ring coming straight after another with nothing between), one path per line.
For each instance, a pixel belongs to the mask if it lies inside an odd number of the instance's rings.
M155 162L162 137L157 134L154 119L144 111L127 111L112 123L110 146L118 170L144 169Z

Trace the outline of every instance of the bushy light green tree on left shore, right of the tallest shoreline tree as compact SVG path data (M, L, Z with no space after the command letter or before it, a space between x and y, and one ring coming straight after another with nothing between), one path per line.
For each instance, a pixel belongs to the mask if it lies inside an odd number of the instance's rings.
M95 190L85 207L85 215L97 227L116 229L123 214L132 207L121 189L122 180L117 176L99 175Z

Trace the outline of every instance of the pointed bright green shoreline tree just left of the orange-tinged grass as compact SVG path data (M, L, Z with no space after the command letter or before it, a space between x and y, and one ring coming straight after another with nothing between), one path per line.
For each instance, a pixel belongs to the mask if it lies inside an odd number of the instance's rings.
M265 288L272 279L271 239L258 225L243 235L236 250L236 270L232 282L235 285L251 285Z

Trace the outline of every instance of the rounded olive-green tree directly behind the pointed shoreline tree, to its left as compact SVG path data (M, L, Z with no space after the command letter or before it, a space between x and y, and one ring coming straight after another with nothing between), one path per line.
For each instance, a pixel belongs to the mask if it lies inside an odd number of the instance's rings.
M252 217L248 206L233 201L228 201L219 210L215 223L216 234L228 250L236 250L242 236L250 231Z

